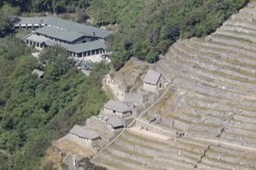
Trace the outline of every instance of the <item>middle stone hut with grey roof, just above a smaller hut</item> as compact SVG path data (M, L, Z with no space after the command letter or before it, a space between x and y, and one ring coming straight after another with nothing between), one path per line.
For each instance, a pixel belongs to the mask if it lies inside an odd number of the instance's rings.
M106 116L119 116L121 118L129 117L132 114L132 110L128 105L112 99L104 105L103 112Z

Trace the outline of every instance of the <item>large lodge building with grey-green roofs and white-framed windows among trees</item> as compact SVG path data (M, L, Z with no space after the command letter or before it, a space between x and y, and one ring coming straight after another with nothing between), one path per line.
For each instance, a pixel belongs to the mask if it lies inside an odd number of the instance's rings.
M38 50L60 46L74 58L106 54L105 41L112 34L112 31L55 17L16 18L15 28L32 30L24 38L26 44Z

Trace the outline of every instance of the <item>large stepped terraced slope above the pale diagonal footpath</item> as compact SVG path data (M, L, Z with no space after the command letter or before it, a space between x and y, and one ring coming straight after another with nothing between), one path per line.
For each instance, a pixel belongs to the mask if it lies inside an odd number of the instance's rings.
M256 3L214 34L178 41L158 69L177 93L156 107L163 127L256 148Z

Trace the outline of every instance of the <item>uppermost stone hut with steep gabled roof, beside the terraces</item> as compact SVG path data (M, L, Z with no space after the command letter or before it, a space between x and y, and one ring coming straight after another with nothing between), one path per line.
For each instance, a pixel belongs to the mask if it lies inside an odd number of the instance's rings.
M158 93L158 90L164 88L165 78L161 73L148 70L146 76L143 78L143 88L149 92Z

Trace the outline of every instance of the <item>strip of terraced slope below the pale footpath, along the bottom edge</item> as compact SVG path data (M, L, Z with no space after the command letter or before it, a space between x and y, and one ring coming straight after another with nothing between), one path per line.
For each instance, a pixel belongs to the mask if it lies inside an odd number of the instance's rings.
M125 132L93 159L97 165L116 170L255 169L256 151L234 149L195 139L148 138Z

